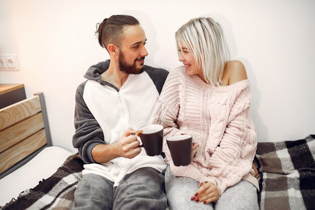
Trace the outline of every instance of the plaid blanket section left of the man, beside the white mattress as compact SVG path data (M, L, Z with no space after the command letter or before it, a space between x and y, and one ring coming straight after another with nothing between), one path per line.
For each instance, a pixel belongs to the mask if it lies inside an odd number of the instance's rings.
M82 178L83 165L77 154L69 156L51 177L22 192L0 209L69 209L77 182Z

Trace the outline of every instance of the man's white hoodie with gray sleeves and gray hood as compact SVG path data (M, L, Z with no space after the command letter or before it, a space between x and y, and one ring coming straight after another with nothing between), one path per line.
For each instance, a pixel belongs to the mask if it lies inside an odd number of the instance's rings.
M169 72L144 65L143 73L129 75L125 84L117 89L100 76L109 63L110 60L106 60L91 66L84 75L88 80L76 89L72 144L86 163L83 174L104 176L117 186L126 174L138 168L164 171L163 157L149 157L142 148L141 153L132 159L120 157L98 164L92 158L92 149L98 144L117 142L128 127L136 130L150 124Z

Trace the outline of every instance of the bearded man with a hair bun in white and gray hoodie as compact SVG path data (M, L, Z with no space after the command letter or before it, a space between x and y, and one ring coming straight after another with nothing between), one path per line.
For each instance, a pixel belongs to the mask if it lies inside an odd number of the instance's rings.
M144 65L138 20L114 15L98 27L110 61L91 66L75 95L73 146L86 165L73 209L166 209L166 163L139 147L135 130L150 124L168 75Z

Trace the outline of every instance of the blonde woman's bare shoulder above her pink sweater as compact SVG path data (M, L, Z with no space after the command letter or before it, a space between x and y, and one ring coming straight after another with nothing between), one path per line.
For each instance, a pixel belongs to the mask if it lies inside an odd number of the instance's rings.
M240 60L230 60L227 62L224 67L224 74L226 74L228 85L248 79L245 66Z

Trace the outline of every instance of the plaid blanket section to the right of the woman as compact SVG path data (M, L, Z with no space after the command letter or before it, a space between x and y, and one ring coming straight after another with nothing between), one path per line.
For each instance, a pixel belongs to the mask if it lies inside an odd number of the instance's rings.
M297 141L258 143L260 209L315 209L315 135Z

